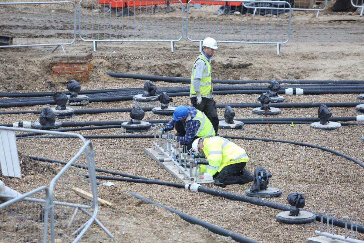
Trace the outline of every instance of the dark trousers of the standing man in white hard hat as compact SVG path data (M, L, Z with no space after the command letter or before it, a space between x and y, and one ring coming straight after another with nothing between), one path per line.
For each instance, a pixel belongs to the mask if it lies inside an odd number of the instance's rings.
M208 99L202 97L201 104L197 105L197 97L192 97L191 103L193 107L205 113L206 117L209 118L212 126L214 127L215 133L217 134L217 129L219 128L219 118L216 111L216 102L214 99Z

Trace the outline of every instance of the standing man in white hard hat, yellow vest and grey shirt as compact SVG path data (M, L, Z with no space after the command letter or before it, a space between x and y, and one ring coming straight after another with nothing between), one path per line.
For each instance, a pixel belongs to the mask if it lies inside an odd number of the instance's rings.
M211 81L211 57L217 49L217 42L213 38L207 37L202 42L202 52L196 58L191 73L190 99L192 105L205 113L211 121L215 133L219 127L216 102L212 98Z

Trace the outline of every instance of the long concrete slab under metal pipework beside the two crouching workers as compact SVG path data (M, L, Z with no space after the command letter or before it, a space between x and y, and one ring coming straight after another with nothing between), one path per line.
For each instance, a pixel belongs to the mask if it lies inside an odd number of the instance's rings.
M183 183L191 183L196 182L199 184L207 184L207 183L213 183L214 181L206 181L203 179L198 178L201 176L200 172L197 172L197 177L195 176L196 168L193 168L193 180L189 180L185 174L183 174L179 168L172 162L172 161L166 161L166 162L159 162L160 158L168 159L167 156L165 156L159 149L157 148L147 148L144 149L144 153L149 155L153 160L157 161L158 165L161 166L163 169L168 171L172 176L177 178L178 180L183 181ZM187 168L187 171L189 171L189 168Z

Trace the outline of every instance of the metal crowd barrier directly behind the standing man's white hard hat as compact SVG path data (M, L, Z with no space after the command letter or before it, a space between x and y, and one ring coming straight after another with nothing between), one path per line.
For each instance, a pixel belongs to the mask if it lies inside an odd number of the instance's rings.
M226 14L225 2L234 6L234 14ZM243 2L254 5L244 8ZM279 55L281 44L287 43L290 38L291 6L285 1L274 1L279 4L278 7L268 7L267 3L272 1L190 0L187 3L191 12L186 20L187 39L199 42L200 51L202 40L206 37L225 43L276 44ZM197 4L199 8L191 8L191 4ZM214 8L214 5L217 6ZM260 14L253 15L256 11ZM277 11L281 14L274 15Z

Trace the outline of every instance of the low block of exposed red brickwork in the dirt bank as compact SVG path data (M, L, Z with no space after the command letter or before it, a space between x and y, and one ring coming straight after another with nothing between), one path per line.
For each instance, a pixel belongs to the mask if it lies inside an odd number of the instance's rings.
M55 76L72 76L78 81L87 81L92 54L55 56L50 62Z

